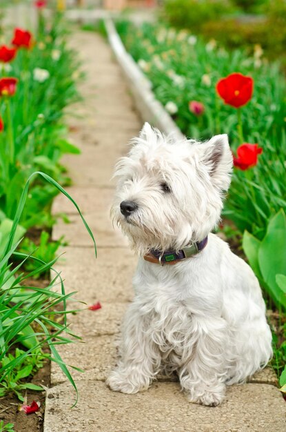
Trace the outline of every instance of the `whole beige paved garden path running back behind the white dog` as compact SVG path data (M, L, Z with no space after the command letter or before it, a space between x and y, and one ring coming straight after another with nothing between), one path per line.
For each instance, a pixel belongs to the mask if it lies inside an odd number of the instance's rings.
M80 86L83 101L72 109L77 117L68 119L70 140L82 153L65 157L65 164L74 182L69 192L93 230L98 258L94 259L91 239L79 215L62 196L57 197L53 210L67 213L70 224L57 224L54 237L65 235L69 241L58 264L67 290L78 291L76 298L88 305L100 301L102 308L70 316L72 330L84 342L63 345L59 351L65 362L85 369L85 373L73 372L79 403L70 409L74 390L52 364L44 432L285 431L285 402L270 370L252 383L229 388L227 399L216 408L188 403L179 384L170 380L159 380L136 395L114 393L105 385L116 362L119 326L132 299L136 265L108 216L114 189L110 177L116 159L126 153L126 143L139 132L142 121L132 108L127 85L106 41L99 35L75 32L71 43L86 76ZM70 302L69 307L85 305Z

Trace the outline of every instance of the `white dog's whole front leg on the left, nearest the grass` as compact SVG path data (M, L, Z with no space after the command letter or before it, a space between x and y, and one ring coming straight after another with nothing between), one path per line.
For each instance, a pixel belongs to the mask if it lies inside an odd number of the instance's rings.
M148 337L148 315L142 315L136 304L131 304L123 322L120 360L110 373L107 384L114 391L137 393L147 390L159 370L161 355Z

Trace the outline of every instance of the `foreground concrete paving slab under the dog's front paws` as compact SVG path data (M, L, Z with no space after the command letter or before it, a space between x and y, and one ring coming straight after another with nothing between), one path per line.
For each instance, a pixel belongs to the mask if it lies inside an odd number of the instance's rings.
M286 404L278 389L245 384L227 389L221 406L187 402L177 383L159 382L144 393L125 395L105 383L78 382L80 400L73 409L70 384L51 389L45 432L283 432Z

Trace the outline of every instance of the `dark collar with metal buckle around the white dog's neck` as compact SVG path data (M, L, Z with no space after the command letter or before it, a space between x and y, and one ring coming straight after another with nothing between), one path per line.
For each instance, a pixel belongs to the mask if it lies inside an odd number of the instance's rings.
M183 259L191 258L193 255L203 251L203 249L207 246L207 237L205 237L201 242L196 242L192 244L187 244L180 251L166 251L162 253L161 251L157 251L156 249L151 249L150 253L144 255L145 261L153 262L154 264L176 264L179 261L183 261Z

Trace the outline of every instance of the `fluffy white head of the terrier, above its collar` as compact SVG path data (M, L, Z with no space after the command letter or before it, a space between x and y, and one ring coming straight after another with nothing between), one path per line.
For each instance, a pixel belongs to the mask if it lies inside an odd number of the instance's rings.
M202 240L218 223L230 184L227 135L178 142L146 123L132 144L116 165L114 222L139 253Z

